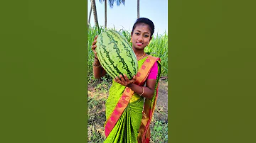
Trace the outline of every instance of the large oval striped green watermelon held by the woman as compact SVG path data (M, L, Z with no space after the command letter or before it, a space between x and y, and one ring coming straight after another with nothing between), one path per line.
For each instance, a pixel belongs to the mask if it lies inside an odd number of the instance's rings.
M126 74L128 79L132 79L137 74L136 55L121 33L105 30L98 35L96 45L100 64L112 78Z

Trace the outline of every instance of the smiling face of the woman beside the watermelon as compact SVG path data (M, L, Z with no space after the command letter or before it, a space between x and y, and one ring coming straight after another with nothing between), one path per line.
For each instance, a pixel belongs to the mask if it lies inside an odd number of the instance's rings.
M138 23L132 33L132 47L138 50L144 49L151 40L149 25Z

